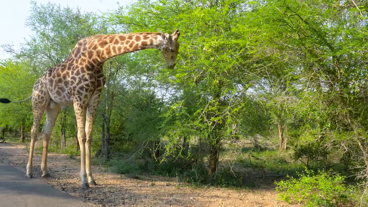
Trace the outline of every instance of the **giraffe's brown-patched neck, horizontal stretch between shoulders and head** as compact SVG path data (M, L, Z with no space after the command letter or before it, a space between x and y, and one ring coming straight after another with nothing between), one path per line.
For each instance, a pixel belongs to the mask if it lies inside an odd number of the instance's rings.
M97 48L93 44L88 45L92 46L92 50L96 49L96 58L101 63L117 55L149 48L159 49L163 45L161 34L152 32L102 35L93 42Z

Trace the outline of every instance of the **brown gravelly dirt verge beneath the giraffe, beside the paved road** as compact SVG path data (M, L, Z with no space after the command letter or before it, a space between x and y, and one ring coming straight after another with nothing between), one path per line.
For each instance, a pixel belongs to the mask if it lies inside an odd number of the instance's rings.
M0 143L0 159L25 172L28 161L28 144ZM296 207L277 200L275 189L230 190L222 188L193 188L165 177L133 179L117 173L109 173L101 166L92 166L93 177L98 183L84 190L79 187L79 158L50 153L47 159L50 178L42 178L42 155L33 158L33 176L45 179L56 189L79 197L98 207ZM180 187L178 187L180 186Z

